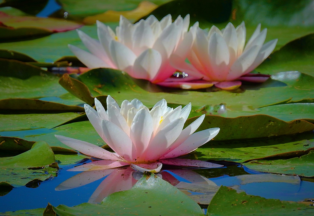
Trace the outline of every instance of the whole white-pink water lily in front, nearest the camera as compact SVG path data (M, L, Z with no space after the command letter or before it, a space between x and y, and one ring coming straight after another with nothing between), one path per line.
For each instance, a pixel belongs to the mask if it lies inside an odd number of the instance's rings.
M107 111L96 98L95 106L97 111L85 104L86 115L115 153L85 141L55 135L65 145L83 154L103 159L84 164L86 170L111 169L131 164L131 167L138 171L159 172L162 163L221 167L205 161L176 158L195 150L219 132L219 128L211 128L194 133L205 115L183 129L191 111L191 103L184 108L179 106L173 109L167 107L167 102L162 99L149 110L138 99L134 99L131 102L123 101L120 108L116 101L108 96Z

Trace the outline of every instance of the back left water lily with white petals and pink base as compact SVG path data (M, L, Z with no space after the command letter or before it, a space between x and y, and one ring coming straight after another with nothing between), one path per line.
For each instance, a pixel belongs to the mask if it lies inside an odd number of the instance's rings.
M189 23L189 15L184 19L178 16L173 23L170 14L160 21L151 15L136 24L121 15L116 33L97 21L99 41L78 30L90 53L72 45L69 48L89 68L119 69L134 78L159 83L176 71L169 58L183 42ZM188 38L184 43L192 46L192 40Z

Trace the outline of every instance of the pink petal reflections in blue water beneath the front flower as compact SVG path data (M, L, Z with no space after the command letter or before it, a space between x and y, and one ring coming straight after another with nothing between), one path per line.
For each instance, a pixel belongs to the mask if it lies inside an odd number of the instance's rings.
M77 168L79 168L79 166ZM157 173L157 175L173 186L176 186L180 182L185 181L195 185L202 184L213 186L218 190L217 185L213 181L208 180L204 176L190 169L161 170L159 173ZM100 185L89 198L88 202L98 203L114 192L131 189L135 183L143 177L143 173L134 171L134 169L132 169L130 166L116 169L84 171L62 182L59 186L56 187L55 190L62 191L84 186L105 176L106 178L100 183Z

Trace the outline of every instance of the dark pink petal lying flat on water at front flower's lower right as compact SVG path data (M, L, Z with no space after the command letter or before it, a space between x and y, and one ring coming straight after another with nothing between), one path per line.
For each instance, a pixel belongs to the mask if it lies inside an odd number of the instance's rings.
M200 160L191 160L191 159L183 159L183 158L169 158L159 160L163 164L171 165L171 166L183 166L183 167L206 167L206 168L217 168L223 167L224 165L210 163L207 161Z

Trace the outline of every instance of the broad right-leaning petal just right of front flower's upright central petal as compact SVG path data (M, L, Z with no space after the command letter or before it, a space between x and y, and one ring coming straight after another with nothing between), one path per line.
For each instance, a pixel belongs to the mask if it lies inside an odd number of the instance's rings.
M144 155L147 160L156 160L165 152L169 151L173 142L180 135L184 125L184 119L178 118L170 122L161 129L154 138L150 141Z

